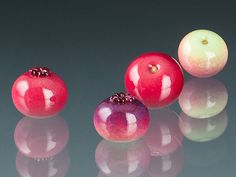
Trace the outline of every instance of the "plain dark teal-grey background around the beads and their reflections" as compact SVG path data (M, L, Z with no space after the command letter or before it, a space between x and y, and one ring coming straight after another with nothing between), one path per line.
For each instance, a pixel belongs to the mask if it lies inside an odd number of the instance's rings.
M1 1L0 176L18 176L13 133L22 115L11 101L11 86L18 75L33 66L47 66L62 76L69 89L69 101L61 113L70 129L67 176L97 176L94 152L101 138L92 122L96 105L124 90L125 70L136 56L162 51L177 58L180 39L194 29L206 28L220 34L229 48L227 66L215 77L228 89L229 124L214 142L184 140L184 152L201 154L222 143L227 151L208 166L186 161L180 176L234 177L236 11L234 4L220 2ZM177 103L171 108L180 112Z

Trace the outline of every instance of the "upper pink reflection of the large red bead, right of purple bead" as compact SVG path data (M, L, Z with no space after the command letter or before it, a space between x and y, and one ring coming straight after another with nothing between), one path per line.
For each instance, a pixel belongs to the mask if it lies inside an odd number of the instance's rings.
M152 113L144 141L153 156L170 154L182 145L183 135L178 127L178 116L169 109L154 110Z

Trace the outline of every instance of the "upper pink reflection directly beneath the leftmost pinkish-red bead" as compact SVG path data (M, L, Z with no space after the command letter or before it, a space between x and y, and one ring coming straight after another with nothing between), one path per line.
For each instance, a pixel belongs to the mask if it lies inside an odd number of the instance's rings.
M21 119L14 133L19 151L31 158L48 158L61 152L69 138L65 121L59 117L50 119Z

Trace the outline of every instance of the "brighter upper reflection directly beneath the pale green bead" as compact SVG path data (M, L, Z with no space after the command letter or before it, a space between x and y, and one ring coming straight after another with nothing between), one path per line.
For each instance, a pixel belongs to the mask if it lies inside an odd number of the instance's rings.
M182 111L190 117L204 119L219 114L227 105L228 93L218 80L193 78L179 96Z

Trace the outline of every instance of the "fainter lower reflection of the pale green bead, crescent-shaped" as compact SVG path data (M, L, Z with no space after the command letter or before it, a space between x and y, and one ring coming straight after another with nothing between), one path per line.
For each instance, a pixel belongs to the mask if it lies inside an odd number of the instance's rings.
M207 119L196 119L180 114L179 126L184 136L192 141L207 142L222 135L227 127L226 111Z

